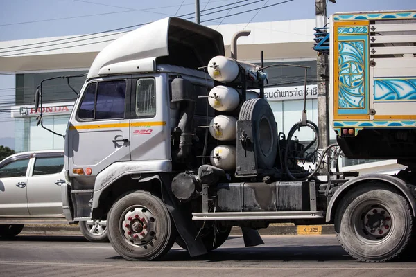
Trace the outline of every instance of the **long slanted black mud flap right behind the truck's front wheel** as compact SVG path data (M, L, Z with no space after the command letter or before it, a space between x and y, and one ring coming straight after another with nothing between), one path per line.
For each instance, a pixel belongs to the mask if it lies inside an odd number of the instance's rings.
M162 177L162 176L160 176ZM187 216L186 211L183 210L173 198L173 194L170 190L170 182L163 181L165 178L162 177L160 179L162 185L162 197L163 202L168 208L169 213L171 213L173 222L175 223L177 233L181 236L182 240L184 240L185 244L187 244L187 249L189 255L191 257L200 256L208 253L205 245L202 243L201 238L198 235L198 231L196 226L192 222L192 218Z

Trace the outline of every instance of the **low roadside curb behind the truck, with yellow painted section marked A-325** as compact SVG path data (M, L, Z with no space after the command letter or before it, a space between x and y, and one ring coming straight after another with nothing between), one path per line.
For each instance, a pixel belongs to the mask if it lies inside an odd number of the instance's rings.
M22 235L82 235L78 224L35 225L24 226ZM259 229L260 235L333 235L333 225L275 225ZM232 227L230 235L242 235L240 227Z

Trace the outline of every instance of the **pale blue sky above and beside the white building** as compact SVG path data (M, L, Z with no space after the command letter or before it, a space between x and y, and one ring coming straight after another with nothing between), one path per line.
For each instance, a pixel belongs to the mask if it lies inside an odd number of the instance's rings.
M200 0L200 20L203 25L218 25L315 18L315 0L281 2L285 0ZM334 12L416 10L416 0L336 2L328 2L327 15ZM195 0L0 0L0 41L97 33L168 16L191 14L184 17L189 18L195 12L195 3ZM270 6L276 3L280 4ZM231 5L220 10L234 8L222 12L209 10L227 4ZM234 15L239 12L243 13ZM207 13L211 14L205 15ZM226 15L225 19L216 19ZM194 18L189 20L195 21ZM14 75L0 75L0 102L14 101L10 96L14 93L10 89L13 87ZM7 107L0 104L0 111L4 108ZM15 136L12 118L10 114L0 113L0 139L10 136Z

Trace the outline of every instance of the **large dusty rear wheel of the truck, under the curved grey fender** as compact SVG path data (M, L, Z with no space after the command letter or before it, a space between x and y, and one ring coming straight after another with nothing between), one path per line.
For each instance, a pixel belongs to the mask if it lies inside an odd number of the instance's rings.
M413 215L406 199L383 184L362 184L341 199L335 216L337 238L363 262L397 258L408 246Z

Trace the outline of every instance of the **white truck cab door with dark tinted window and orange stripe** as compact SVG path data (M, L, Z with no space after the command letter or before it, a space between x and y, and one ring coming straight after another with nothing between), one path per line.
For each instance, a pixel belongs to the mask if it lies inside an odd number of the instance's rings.
M66 139L71 177L96 177L112 163L130 161L130 83L129 75L85 85ZM88 178L87 183L94 180Z

